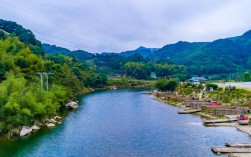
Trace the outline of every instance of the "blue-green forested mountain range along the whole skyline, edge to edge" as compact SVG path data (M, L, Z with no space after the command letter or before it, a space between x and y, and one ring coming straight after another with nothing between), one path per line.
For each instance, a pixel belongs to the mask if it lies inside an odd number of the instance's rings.
M188 74L194 75L238 73L249 71L251 68L251 31L247 31L240 36L217 39L212 42L179 41L175 44L167 44L162 48L141 46L135 50L120 53L93 54L83 50L70 51L55 45L41 44L30 30L15 22L0 19L0 29L10 33L10 35L16 35L36 54L55 55L63 53L85 63L88 62L93 67L99 64L105 66L106 69L111 69L109 66L116 65L116 69L121 69L124 63L128 61L126 58L136 55L129 60L184 65ZM139 56L142 56L142 58ZM113 65L109 65L109 63L113 63ZM104 69L104 67L102 68Z

